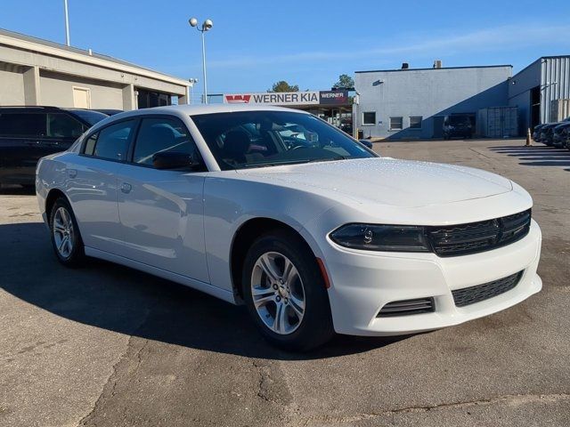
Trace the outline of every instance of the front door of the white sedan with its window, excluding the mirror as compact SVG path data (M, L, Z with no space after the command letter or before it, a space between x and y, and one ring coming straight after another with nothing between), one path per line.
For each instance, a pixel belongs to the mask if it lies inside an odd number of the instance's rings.
M118 170L122 254L209 283L203 230L205 173L153 166L159 152L190 154L190 133L175 117L142 118L132 161Z

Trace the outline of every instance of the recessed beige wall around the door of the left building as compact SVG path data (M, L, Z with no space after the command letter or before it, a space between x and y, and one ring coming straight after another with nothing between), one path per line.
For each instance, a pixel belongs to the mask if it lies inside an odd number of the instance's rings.
M79 107L73 102L73 88L89 90L91 109L123 109L123 86L100 80L66 76L40 70L42 104L57 107Z

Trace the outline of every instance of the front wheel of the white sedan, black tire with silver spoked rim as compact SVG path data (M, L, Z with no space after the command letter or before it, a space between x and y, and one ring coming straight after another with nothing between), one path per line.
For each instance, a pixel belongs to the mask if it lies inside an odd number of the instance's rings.
M300 238L282 231L257 238L241 283L249 314L273 345L312 350L334 334L321 271Z

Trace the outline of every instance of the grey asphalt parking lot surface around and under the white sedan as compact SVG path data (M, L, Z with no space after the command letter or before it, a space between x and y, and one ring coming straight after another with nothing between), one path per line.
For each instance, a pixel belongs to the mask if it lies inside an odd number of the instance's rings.
M462 326L269 347L246 310L108 262L56 262L36 197L0 191L0 425L566 426L570 151L522 140L378 142L529 190L543 289Z

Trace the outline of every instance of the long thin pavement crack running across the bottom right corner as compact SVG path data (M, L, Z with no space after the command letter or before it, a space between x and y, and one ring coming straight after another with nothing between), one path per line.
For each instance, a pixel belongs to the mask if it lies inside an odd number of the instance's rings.
M570 393L555 394L507 394L489 399L464 400L459 402L441 403L437 405L426 405L417 407L402 407L387 409L379 412L363 413L358 415L335 416L335 415L314 415L306 418L300 425L306 427L314 423L356 423L363 420L379 418L389 415L400 415L409 413L423 413L437 409L474 407L477 405L492 405L494 403L507 403L509 405L522 405L533 402L557 402L559 400L570 400Z

